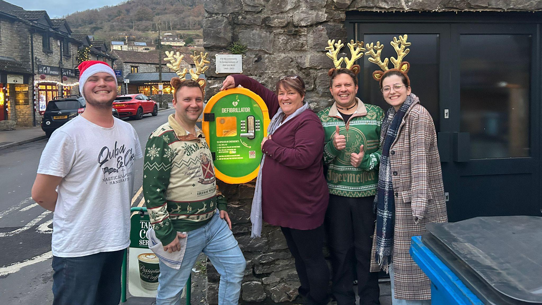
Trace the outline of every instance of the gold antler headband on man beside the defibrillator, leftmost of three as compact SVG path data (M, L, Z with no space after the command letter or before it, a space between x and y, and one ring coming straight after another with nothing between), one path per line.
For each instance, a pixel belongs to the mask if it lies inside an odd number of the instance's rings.
M207 82L203 78L199 78L199 75L204 74L205 70L209 68L209 66L205 66L205 63L210 63L207 60L207 56L209 56L209 53L203 54L203 52L200 52L199 55L197 55L196 51L194 51L194 55L190 55L190 58L194 61L194 64L196 65L196 71L192 71L192 69L186 69L186 68L183 68L183 70L181 71L180 62L183 60L184 55L181 55L179 52L174 53L173 51L171 52L166 51L166 55L167 57L164 58L164 60L169 60L171 62L171 63L168 63L166 66L172 69L173 71L175 71L177 75L179 75L178 79L180 81L185 81L186 72L190 72L190 77L199 84L199 87L202 88L205 94L204 90L205 90L205 86L207 85ZM178 79L176 78L171 79L170 84L172 86L174 86L173 84L178 84L179 82Z

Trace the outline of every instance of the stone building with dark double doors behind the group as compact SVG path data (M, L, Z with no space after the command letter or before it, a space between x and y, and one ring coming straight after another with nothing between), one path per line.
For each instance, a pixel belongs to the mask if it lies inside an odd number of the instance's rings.
M268 88L281 75L299 74L305 101L319 111L333 101L328 40L345 44L339 57L350 56L351 40L364 41L365 48L380 41L384 60L397 56L393 36L408 34L412 92L436 126L450 221L541 215L542 2L206 0L204 8L204 47L211 59L207 98L228 75L216 73L215 54L229 54L227 48L238 42L247 47L243 74ZM356 62L357 96L388 109L372 79L379 67L370 57ZM229 199L233 231L247 259L240 302L299 302L299 282L279 228L264 226L261 238L249 237L253 183L219 188ZM435 195L442 194L429 196ZM210 263L207 270L207 301L216 304L218 274Z

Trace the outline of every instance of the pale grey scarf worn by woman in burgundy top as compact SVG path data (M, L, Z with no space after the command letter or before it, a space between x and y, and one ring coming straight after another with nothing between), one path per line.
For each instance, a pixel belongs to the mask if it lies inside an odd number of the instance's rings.
M301 112L308 109L308 103L303 104L298 110L296 110L294 113L289 115L284 122L282 122L282 118L284 117L284 112L282 109L279 108L279 111L276 113L276 115L271 119L271 122L269 123L269 126L267 128L267 134L273 135L273 132L277 128L279 128L280 123L282 124L288 122L288 120L291 120L295 118L296 116L299 116ZM250 221L252 223L252 231L250 233L251 237L260 237L262 234L262 168L263 168L263 162L266 160L266 155L263 154L262 161L260 162L260 170L258 171L258 176L256 178L256 187L254 189L254 198L252 199L252 209L250 211Z

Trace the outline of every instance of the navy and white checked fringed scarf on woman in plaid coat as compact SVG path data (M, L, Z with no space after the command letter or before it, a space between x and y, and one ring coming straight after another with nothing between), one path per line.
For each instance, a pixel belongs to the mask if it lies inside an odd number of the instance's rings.
M397 113L393 107L390 107L382 123L381 137L384 136L384 142L382 144L382 157L380 157L380 172L378 174L378 189L374 208L376 210L376 261L380 268L386 272L388 272L388 265L391 263L393 225L395 225L395 199L393 198L393 185L391 183L390 148L391 144L395 142L406 111L415 99L417 97L413 93L407 96Z

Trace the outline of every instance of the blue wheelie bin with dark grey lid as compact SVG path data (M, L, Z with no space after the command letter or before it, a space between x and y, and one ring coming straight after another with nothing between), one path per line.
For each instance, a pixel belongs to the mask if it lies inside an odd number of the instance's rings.
M542 305L542 217L476 217L427 225L410 255L431 304Z

